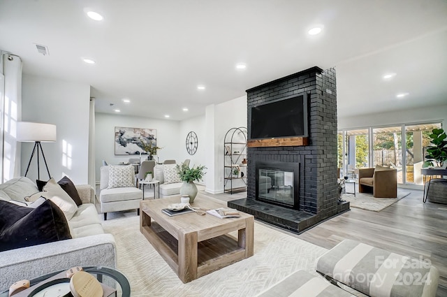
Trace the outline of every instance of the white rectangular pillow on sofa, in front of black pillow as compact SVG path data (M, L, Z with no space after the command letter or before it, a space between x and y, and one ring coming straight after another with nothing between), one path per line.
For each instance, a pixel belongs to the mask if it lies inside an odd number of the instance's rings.
M66 191L59 186L54 178L48 180L45 187L43 187L43 192L41 192L41 194L41 196L54 202L54 204L56 204L64 212L67 220L70 220L78 211L78 205L76 205L75 201L73 201Z

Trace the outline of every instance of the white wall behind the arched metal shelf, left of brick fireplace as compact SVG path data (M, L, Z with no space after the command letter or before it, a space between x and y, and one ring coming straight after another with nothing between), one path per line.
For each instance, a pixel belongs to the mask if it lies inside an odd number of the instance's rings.
M231 128L247 127L247 96L241 96L207 108L206 125L208 129L207 141L210 142L207 145L207 149L210 150L207 154L207 164L210 165L207 165L207 167L209 171L214 173L214 176L210 174L209 179L207 179L206 191L214 194L222 193L223 138L225 138L226 132ZM213 127L213 129L210 130L210 127Z

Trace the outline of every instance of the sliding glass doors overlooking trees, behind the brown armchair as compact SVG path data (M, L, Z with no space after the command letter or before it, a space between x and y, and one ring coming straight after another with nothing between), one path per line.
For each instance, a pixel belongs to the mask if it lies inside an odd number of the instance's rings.
M339 131L337 162L340 176L357 178L358 168L390 166L399 184L423 185L423 166L432 129L441 123L402 124Z

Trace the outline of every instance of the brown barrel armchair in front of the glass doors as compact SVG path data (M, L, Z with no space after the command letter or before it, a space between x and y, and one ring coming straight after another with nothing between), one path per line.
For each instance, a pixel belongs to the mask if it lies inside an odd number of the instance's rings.
M397 197L397 170L377 165L376 168L358 169L358 191L377 198Z

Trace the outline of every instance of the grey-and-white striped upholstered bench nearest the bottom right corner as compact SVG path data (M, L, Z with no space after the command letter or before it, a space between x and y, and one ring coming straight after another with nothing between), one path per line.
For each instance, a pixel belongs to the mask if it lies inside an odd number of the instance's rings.
M368 296L436 296L439 271L430 261L344 240L321 256L316 271Z

